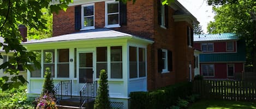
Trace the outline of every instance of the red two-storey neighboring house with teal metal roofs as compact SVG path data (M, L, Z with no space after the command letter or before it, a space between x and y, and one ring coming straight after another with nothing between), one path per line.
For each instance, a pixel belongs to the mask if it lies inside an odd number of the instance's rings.
M194 35L201 50L200 74L206 79L234 79L244 71L246 44L233 33Z

